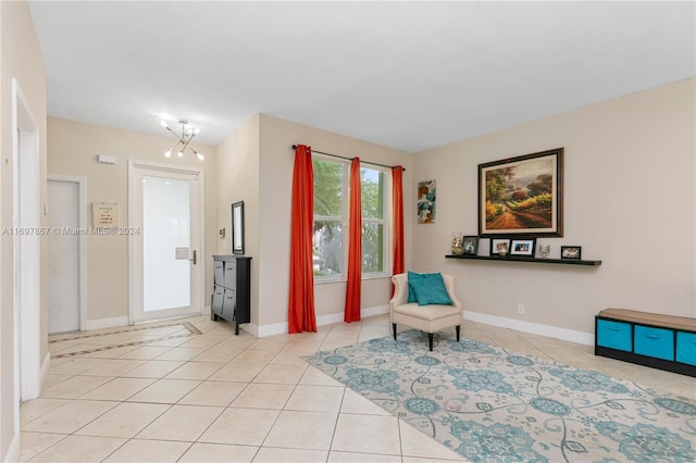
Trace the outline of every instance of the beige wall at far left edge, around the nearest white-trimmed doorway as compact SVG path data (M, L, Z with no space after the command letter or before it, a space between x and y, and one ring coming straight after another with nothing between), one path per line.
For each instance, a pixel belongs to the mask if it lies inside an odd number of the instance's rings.
M26 2L0 2L0 225L12 227L12 79L16 78L33 117L38 124L40 201L46 199L46 70L34 34ZM41 217L41 225L46 225ZM41 240L45 249L47 240ZM14 304L12 235L0 235L0 460L18 455L18 429L15 429ZM45 263L45 253L41 255ZM41 287L46 288L46 266L41 265ZM41 363L47 353L46 298L41 297ZM18 392L17 392L18 393Z

